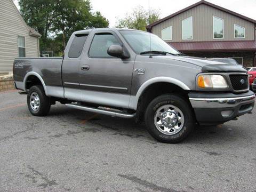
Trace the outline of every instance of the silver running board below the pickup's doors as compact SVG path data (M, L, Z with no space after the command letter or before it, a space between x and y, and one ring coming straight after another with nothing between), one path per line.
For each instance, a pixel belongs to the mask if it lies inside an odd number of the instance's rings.
M111 116L123 117L123 118L133 118L135 116L135 114L121 113L118 111L99 109L99 108L94 108L94 107L85 107L85 106L80 106L80 105L75 105L75 104L65 104L65 105L70 108L90 111L93 113L99 113L99 114L103 114L103 115L111 115Z

